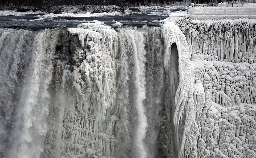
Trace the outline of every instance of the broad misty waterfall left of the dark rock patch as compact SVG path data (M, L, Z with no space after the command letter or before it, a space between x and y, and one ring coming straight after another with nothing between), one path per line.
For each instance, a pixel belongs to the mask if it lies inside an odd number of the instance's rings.
M3 157L39 157L58 31L2 29L0 35L0 150Z

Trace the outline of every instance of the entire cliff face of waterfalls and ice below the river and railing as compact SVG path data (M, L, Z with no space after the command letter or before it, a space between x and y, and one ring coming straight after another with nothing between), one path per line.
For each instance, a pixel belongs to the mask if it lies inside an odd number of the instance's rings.
M255 24L0 29L0 157L256 157Z

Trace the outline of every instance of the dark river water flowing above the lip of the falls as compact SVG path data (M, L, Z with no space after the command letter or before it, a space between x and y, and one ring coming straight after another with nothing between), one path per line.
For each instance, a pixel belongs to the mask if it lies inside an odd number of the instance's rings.
M160 20L168 16L156 16L149 13L120 16L97 16L97 17L56 17L53 22L34 21L38 14L25 16L0 16L0 27L40 30L45 28L76 28L84 22L98 20L106 25L121 22L124 26L158 26ZM154 21L154 22L153 22Z

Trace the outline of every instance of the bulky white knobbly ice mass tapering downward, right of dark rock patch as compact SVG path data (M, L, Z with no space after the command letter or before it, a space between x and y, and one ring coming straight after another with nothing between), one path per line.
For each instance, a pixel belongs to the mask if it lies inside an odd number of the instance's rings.
M70 36L78 34L83 48L75 45L74 85L88 103L86 107L91 107L99 118L105 119L115 92L117 34L109 28L68 31Z

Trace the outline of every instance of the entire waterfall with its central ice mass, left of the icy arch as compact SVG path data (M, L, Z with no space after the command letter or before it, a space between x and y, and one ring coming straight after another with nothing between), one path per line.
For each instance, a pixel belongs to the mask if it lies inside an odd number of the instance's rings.
M163 154L160 27L0 30L0 156Z

